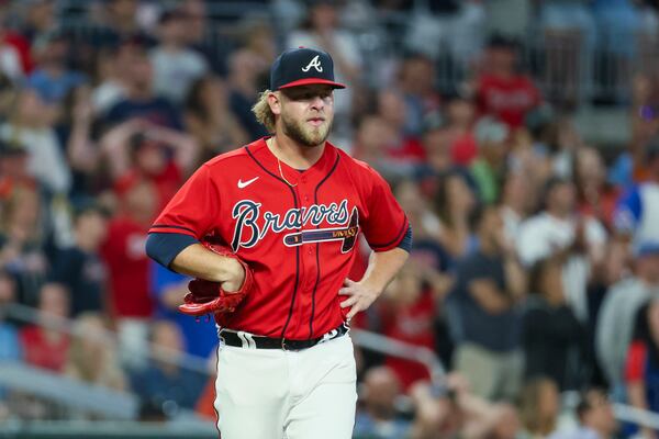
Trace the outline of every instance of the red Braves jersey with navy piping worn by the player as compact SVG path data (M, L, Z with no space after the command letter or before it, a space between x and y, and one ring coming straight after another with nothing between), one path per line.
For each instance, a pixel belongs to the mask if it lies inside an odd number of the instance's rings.
M254 270L254 290L216 318L221 326L308 339L345 320L339 303L347 296L338 290L357 258L358 235L384 251L407 227L389 184L368 165L326 143L320 160L299 171L261 138L201 166L149 233L220 238Z

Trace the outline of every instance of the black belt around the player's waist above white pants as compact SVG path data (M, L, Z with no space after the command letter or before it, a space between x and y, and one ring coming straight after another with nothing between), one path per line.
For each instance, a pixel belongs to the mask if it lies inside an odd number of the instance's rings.
M220 338L224 345L235 346L238 348L302 350L311 348L320 342L338 338L347 334L348 330L348 326L346 324L342 324L337 328L332 329L330 333L317 338L310 338L308 340L289 340L287 338L261 337L252 335L249 333L224 329L220 331Z

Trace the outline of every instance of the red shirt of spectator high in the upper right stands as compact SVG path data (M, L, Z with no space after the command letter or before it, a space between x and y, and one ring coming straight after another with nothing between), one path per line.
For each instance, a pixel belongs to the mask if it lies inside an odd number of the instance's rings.
M494 115L514 130L524 125L526 113L540 103L540 92L523 75L511 78L482 75L478 80L477 102L481 114Z

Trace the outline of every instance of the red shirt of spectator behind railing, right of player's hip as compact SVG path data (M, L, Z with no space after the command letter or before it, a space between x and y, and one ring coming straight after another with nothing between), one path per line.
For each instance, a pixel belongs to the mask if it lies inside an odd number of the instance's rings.
M429 290L423 291L407 306L386 304L381 311L384 336L410 345L435 348L435 299ZM431 378L427 368L417 361L388 357L387 365L396 373L405 391L416 381Z

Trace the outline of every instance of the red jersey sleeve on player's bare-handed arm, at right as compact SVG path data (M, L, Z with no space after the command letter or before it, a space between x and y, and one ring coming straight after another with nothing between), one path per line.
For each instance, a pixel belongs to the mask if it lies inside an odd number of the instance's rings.
M361 229L375 251L391 250L401 244L410 224L389 183L372 168L367 169L371 173L372 185L366 201L368 217L361 222Z

